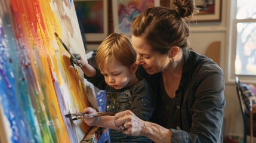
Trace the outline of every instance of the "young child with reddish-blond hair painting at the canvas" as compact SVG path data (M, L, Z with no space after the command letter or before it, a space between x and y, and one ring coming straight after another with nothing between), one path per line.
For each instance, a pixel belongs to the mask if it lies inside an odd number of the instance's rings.
M142 120L149 120L155 109L155 94L146 80L136 76L137 53L127 36L112 33L100 44L95 60L98 69L82 60L81 55L74 54L75 64L82 64L85 78L101 90L107 92L106 111L131 110ZM91 107L85 108L83 113L97 113ZM110 129L112 142L152 142L144 136L128 136L122 133L129 125L117 128L113 125L115 116L101 116L87 118L85 123L90 126L101 126Z

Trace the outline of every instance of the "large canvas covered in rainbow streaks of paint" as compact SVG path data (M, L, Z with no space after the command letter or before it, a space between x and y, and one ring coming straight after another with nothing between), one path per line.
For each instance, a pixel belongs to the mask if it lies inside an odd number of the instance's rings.
M0 0L0 142L79 142L90 129L65 117L90 103L86 60L72 0Z

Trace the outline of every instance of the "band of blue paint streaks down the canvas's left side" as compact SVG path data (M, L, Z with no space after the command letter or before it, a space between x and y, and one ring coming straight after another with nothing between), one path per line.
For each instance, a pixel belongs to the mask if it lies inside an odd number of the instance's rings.
M0 26L0 102L4 114L10 123L13 135L11 142L40 142L38 120L32 107L27 87L26 74L21 67L20 56L27 57L20 51L13 36L8 15L4 16ZM8 23L7 23L8 22ZM13 62L10 62L10 58ZM30 70L27 68L27 70Z

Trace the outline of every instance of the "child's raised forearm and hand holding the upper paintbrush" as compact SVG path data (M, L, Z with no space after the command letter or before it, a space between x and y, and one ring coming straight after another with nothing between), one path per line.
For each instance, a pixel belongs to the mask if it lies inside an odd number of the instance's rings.
M86 76L92 77L96 75L96 70L94 69L94 67L88 64L86 61L84 61L80 54L73 54L73 55L75 59L70 58L70 61L78 66L79 64L81 64L82 65L81 69Z

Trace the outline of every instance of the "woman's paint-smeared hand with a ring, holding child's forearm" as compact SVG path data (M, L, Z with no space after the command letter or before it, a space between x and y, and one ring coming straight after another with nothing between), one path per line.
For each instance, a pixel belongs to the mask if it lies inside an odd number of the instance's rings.
M119 130L127 135L143 135L146 122L135 116L130 110L115 114L115 125Z

